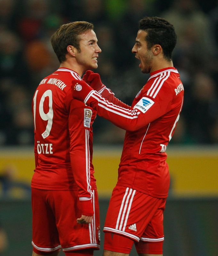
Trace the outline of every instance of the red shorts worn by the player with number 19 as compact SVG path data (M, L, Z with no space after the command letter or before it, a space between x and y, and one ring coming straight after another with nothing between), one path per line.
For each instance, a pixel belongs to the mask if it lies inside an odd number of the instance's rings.
M100 220L97 190L93 190L94 217L90 224L78 224L82 215L77 191L32 188L33 249L64 252L100 248Z

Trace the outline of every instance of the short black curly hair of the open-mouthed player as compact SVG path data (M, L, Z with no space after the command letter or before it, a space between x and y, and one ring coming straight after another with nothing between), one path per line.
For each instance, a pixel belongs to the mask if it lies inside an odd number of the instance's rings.
M139 21L139 29L148 33L145 37L148 49L154 44L160 44L165 59L172 60L172 52L176 45L176 34L172 24L163 18L145 17Z

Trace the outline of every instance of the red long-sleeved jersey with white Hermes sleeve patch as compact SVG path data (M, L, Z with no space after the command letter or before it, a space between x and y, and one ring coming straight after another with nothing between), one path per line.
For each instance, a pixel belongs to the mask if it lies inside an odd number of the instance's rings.
M150 74L132 107L114 97L106 87L91 91L85 104L126 135L118 170L117 185L164 198L169 190L165 150L175 131L183 106L183 84L178 71L164 68Z

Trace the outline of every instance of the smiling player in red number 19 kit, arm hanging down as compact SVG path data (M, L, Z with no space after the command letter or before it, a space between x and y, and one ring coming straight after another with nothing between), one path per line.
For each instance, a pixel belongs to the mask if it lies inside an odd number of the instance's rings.
M72 80L97 68L101 49L93 24L62 25L51 36L60 62L32 101L35 170L31 182L33 256L91 256L99 249L99 206L92 165L96 111L72 98Z

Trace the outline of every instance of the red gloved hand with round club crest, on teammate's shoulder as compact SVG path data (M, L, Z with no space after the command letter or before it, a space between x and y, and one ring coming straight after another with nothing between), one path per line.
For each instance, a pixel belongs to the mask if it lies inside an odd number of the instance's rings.
M84 102L87 95L93 91L93 89L86 84L86 82L82 80L73 80L72 81L72 92L73 92L73 98L76 100L81 100Z

